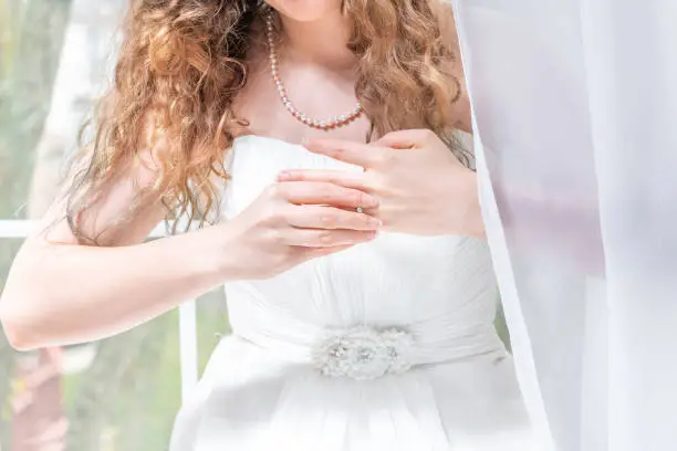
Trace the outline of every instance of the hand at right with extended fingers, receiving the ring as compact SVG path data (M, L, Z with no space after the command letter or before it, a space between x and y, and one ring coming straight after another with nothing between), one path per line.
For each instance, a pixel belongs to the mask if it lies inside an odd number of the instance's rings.
M384 231L483 235L476 175L433 132L395 132L371 145L323 139L306 147L365 171L288 170L279 180L331 182L369 193L378 209L362 207L383 221Z

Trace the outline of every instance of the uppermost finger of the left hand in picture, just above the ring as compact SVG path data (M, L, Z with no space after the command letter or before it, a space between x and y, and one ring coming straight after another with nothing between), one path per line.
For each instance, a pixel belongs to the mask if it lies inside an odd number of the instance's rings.
M364 191L331 182L289 181L278 183L277 192L290 203L348 208L376 208L378 199Z

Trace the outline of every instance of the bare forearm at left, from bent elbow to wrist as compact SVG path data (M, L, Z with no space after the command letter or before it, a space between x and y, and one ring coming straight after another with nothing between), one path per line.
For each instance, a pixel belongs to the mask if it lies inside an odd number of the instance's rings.
M227 232L215 227L118 248L28 242L0 298L6 333L17 348L30 349L144 323L223 282L219 233Z

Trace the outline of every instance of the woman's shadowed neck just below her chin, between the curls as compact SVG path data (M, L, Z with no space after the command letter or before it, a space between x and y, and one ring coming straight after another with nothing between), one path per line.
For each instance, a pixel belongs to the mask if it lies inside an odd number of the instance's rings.
M333 71L352 70L356 56L347 48L350 22L341 12L313 22L281 17L285 59Z

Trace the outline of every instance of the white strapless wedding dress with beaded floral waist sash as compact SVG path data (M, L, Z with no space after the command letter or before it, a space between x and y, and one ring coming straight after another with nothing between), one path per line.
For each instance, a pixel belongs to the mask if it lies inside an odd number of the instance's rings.
M237 139L225 214L288 168L358 168ZM171 451L541 451L493 319L483 241L383 233L226 286L232 335L179 412Z

